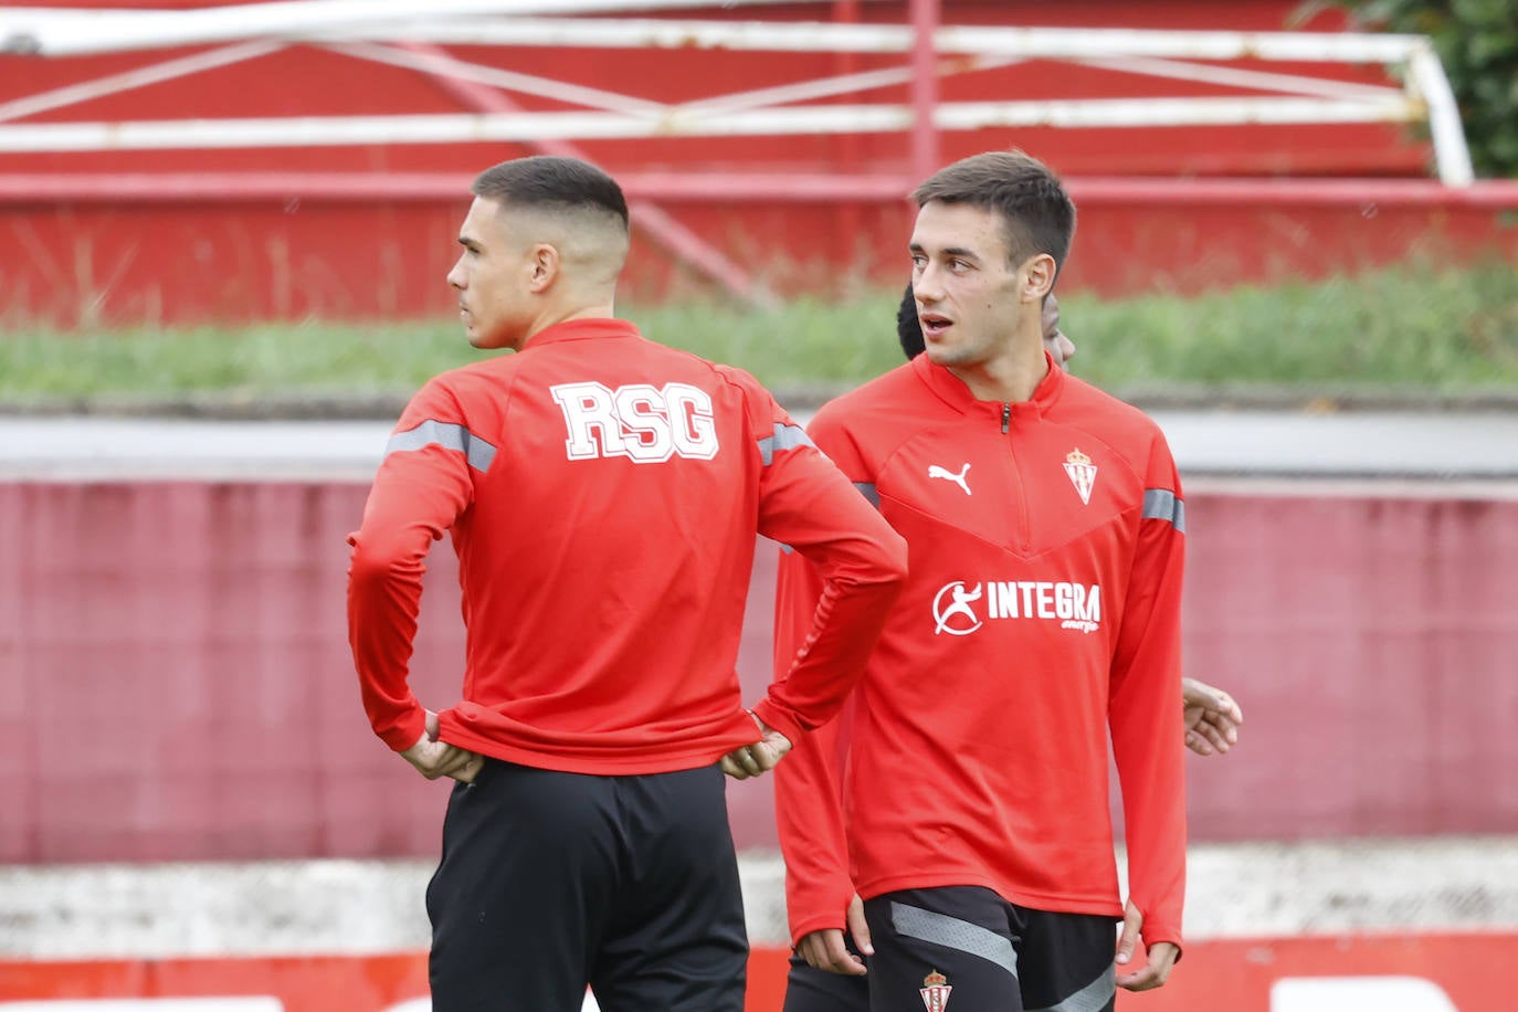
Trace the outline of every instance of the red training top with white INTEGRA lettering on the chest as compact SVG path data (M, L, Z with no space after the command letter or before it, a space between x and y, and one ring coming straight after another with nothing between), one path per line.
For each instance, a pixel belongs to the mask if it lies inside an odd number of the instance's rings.
M1179 944L1184 504L1158 426L1052 361L997 404L918 355L809 428L911 575L847 719L776 769L792 938L855 892L935 886L1120 916L1110 730L1143 938ZM782 558L782 668L817 577Z

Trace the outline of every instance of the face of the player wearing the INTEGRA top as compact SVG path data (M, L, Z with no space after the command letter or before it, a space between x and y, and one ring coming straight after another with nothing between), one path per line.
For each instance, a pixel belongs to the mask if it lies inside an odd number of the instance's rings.
M929 200L917 212L911 252L927 358L964 367L1003 354L1017 329L1022 272L1006 262L1000 218Z

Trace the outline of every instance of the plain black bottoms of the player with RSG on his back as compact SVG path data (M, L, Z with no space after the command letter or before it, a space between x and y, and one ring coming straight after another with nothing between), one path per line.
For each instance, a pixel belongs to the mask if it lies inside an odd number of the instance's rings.
M487 760L427 888L436 1012L742 1012L748 942L716 766L592 777Z

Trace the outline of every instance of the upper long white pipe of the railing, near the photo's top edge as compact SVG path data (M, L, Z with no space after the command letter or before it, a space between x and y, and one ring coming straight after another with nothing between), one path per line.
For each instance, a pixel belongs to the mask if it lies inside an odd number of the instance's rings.
M765 0L724 0L724 6ZM821 0L805 0L821 2ZM712 0L433 0L425 18L411 0L298 0L199 11L0 9L0 50L67 56L193 46L272 35L281 39L420 41L478 46L583 46L905 53L900 24L575 20L542 15L622 14L703 8ZM495 15L495 17L480 17ZM1025 59L1155 56L1302 62L1401 62L1416 35L1313 32L1167 32L1138 29L1019 29L946 26L941 53L997 53Z

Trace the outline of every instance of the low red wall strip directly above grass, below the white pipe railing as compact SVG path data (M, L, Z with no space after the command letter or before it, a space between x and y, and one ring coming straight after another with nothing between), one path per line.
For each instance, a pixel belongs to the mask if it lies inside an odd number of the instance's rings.
M449 190L468 193L468 176ZM1471 196L1431 182L1073 179L1070 190L1081 208L1061 281L1070 290L1195 293L1409 258L1518 261L1518 182ZM457 308L443 278L468 209L461 197L6 203L0 193L0 325L445 317ZM782 294L839 291L861 276L896 285L909 275L905 203L662 206ZM844 217L850 228L833 228ZM657 299L704 284L647 234L635 238L624 291Z

